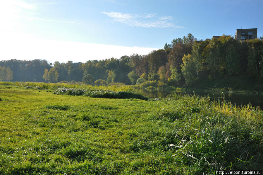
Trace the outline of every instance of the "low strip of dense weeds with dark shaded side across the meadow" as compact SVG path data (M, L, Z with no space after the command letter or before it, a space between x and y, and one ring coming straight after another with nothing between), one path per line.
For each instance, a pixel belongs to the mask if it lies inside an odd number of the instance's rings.
M133 92L126 91L102 91L102 90L84 90L84 89L73 89L73 88L59 88L54 91L54 94L67 94L74 96L88 96L94 98L137 98L142 100L148 100L147 97L142 96L141 94L135 94Z

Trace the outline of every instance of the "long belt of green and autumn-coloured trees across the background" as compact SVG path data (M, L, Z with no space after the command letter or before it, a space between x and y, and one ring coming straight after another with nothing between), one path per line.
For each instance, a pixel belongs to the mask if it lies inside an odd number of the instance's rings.
M191 85L203 72L207 79L248 74L252 79L263 78L263 41L238 41L232 36L196 40L192 34L172 40L164 49L148 55L133 54L119 59L89 60L74 65L46 60L0 61L1 81L82 81L90 74L94 80L107 83ZM49 77L50 75L50 77Z

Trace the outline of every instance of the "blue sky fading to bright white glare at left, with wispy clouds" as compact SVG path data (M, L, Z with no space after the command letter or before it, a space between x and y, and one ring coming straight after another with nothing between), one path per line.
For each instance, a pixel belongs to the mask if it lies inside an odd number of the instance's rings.
M192 33L198 40L258 28L262 0L8 0L0 5L0 60L86 62L163 48Z

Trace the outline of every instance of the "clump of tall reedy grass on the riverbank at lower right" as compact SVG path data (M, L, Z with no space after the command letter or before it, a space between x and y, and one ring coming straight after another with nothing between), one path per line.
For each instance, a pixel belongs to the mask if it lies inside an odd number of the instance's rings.
M237 108L230 102L170 95L157 119L175 119L174 140L168 149L197 174L216 170L263 168L262 111Z

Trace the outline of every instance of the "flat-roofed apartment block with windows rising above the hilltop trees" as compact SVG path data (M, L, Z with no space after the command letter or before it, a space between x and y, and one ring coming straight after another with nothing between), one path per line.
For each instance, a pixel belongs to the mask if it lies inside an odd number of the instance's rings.
M257 28L237 29L235 34L236 40L253 40L257 38Z

